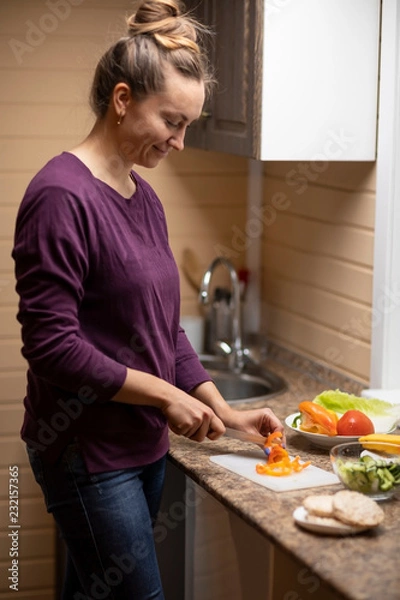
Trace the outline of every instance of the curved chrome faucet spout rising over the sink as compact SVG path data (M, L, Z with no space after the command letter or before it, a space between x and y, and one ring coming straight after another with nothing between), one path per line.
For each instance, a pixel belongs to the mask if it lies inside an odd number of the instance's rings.
M210 266L203 275L200 285L199 299L202 304L210 302L210 281L218 265L223 265L229 271L231 286L233 316L232 316L232 341L229 352L229 366L235 373L240 373L244 366L244 351L242 347L242 326L241 326L241 307L240 307L240 282L233 264L223 256L214 258Z

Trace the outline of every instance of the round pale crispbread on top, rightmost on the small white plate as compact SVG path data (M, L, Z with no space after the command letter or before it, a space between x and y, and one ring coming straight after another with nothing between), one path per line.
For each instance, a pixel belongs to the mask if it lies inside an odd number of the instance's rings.
M375 527L385 515L375 500L359 492L342 490L333 496L333 516L356 527Z

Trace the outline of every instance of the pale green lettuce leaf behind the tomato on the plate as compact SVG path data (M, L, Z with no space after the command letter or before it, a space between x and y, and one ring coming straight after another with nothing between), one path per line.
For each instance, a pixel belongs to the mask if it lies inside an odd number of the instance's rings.
M316 396L316 404L333 410L339 415L348 410L359 410L374 423L376 433L384 433L393 429L400 420L400 404L392 404L378 398L360 398L340 390L327 390Z

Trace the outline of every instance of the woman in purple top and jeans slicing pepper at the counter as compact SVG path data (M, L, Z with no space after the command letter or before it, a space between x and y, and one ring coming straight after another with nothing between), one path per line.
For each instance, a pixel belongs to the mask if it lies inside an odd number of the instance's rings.
M200 116L201 31L176 0L141 2L98 64L93 130L44 166L18 214L22 438L68 549L64 600L163 598L152 524L168 428L198 442L283 430L269 409L233 410L201 366L161 203L132 171L182 150Z

